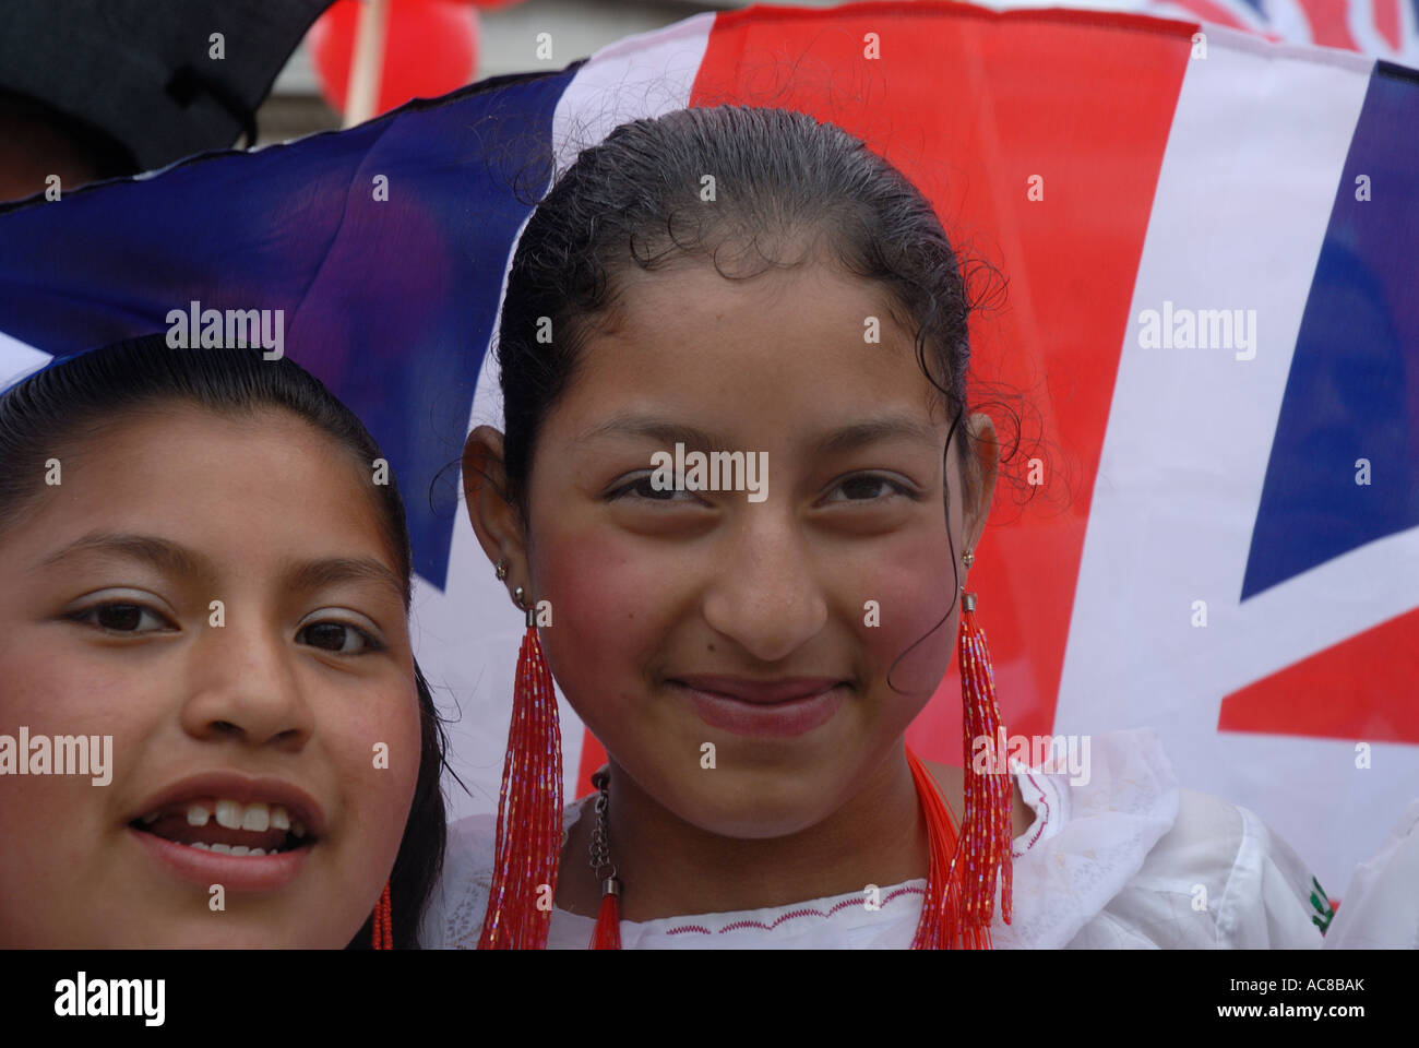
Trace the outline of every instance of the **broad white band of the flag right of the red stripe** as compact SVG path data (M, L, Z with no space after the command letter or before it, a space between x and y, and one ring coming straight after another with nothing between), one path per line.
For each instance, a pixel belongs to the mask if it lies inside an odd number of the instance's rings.
M1242 606L1291 356L1371 60L1208 27L1189 62L1134 288L1066 649L1056 731L1154 726L1179 780L1257 811L1331 890L1412 791L1349 743L1219 736L1222 697L1413 606L1372 542ZM1254 359L1154 349L1139 315L1256 310ZM1410 579L1412 586L1412 579ZM1206 601L1208 626L1192 604Z

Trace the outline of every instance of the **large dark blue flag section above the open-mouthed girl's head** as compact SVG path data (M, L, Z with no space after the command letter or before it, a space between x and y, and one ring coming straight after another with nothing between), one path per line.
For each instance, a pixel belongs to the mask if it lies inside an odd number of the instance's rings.
M502 275L580 64L0 209L0 331L64 354L166 331L192 301L281 310L285 354L389 457L414 568L443 588Z

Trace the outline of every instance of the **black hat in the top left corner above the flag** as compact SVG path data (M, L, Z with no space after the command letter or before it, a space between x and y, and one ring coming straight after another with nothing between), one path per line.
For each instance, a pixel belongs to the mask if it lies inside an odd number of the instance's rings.
M105 132L142 169L241 133L250 145L257 107L331 3L3 0L0 92Z

